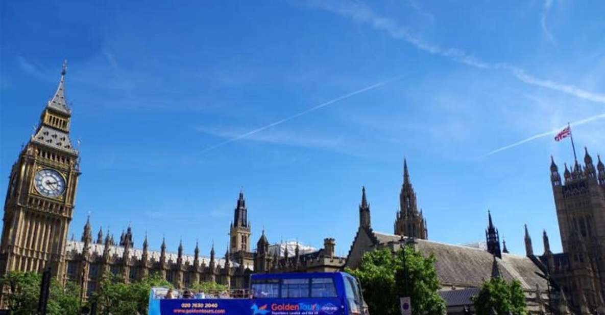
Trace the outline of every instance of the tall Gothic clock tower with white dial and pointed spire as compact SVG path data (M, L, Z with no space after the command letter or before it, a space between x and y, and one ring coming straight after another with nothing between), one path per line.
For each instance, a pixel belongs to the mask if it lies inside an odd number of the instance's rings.
M10 172L0 242L0 274L42 271L65 280L65 242L73 215L78 152L70 139L64 63L59 87Z

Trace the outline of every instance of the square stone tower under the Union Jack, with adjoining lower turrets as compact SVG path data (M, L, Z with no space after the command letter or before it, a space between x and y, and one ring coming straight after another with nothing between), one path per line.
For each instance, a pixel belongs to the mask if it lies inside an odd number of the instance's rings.
M564 181L551 158L551 182L563 253L552 253L542 233L544 253L535 256L528 230L526 254L537 260L562 288L576 313L605 313L605 165L595 168L585 148L584 165L565 164Z

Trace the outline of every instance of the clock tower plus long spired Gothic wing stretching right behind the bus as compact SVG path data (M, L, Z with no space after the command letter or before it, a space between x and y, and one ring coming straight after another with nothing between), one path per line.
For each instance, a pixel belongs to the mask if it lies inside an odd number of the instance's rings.
M209 257L184 254L183 244L177 253L149 250L147 237L142 248L134 248L131 228L114 242L113 235L100 229L93 240L90 218L80 240L68 240L67 234L75 207L77 179L80 175L79 152L70 139L71 109L65 98L65 70L59 87L42 111L30 141L25 145L10 173L4 205L4 226L0 240L0 274L8 271L36 271L51 268L61 282L76 281L82 298L97 289L108 274L132 282L150 273L160 273L175 287L212 281L231 288L246 288L255 267L258 272L334 271L344 265L334 256L335 241L326 239L325 248L289 255L285 251L250 250L251 225L247 218L243 193L237 200L234 220L229 230L229 247L224 258L215 257L214 245ZM262 242L261 242L262 241ZM268 242L267 242L268 244ZM296 246L298 248L298 245Z

